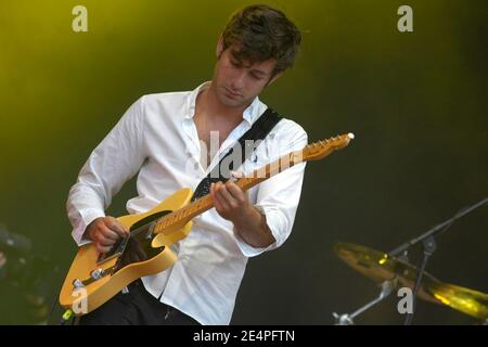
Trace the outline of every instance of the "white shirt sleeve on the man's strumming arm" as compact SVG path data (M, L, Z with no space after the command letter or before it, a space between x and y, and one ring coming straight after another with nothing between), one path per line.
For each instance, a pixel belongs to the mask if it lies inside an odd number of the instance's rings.
M140 98L93 150L79 171L66 202L72 235L78 246L90 242L84 237L87 226L105 216L112 197L141 168L146 152L143 130L143 98Z

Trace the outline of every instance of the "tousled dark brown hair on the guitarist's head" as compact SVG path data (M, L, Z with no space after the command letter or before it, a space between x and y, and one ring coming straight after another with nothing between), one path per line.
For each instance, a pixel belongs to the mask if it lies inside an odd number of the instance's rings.
M273 76L293 66L301 34L280 10L255 4L234 13L222 33L223 51L241 62L275 59Z

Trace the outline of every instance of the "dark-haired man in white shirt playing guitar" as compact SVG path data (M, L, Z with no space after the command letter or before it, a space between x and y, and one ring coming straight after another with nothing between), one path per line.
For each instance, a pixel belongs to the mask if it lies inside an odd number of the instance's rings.
M138 172L130 214L153 208L181 188L195 189L265 114L258 94L293 65L299 43L299 30L281 11L245 8L218 41L210 82L132 104L69 191L78 245L93 242L105 253L127 235L104 210ZM246 175L306 144L304 129L282 118L239 170ZM228 324L247 259L279 247L291 233L304 170L305 164L296 165L246 193L232 180L213 183L215 209L194 218L191 233L176 246L175 265L136 281L128 293L84 316L81 324Z

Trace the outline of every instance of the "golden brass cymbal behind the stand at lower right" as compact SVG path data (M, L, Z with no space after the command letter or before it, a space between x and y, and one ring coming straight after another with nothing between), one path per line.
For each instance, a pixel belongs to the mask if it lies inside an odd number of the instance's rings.
M334 250L351 268L375 283L396 280L401 286L412 290L415 286L416 267L399 258L351 243L336 243ZM488 318L487 294L442 283L428 272L423 274L418 295L426 301L446 305L475 318Z

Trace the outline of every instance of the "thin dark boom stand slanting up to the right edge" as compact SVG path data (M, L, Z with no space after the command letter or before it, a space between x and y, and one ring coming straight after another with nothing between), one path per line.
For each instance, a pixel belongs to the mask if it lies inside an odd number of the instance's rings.
M416 281L415 281L415 287L413 290L413 297L412 297L412 311L407 313L406 320L404 320L404 325L411 325L412 321L413 321L413 314L415 313L415 306L416 306L416 296L420 290L420 285L422 283L422 277L424 275L425 272L425 268L427 266L427 261L429 259L429 257L434 254L434 252L436 250L436 241L434 239L435 235L439 235L441 233L444 233L446 230L449 229L450 226L452 226L452 223L458 220L459 218L467 215L468 213L473 211L474 209L485 205L488 202L488 197L485 197L483 201L468 206L466 208L461 209L460 211L458 211L454 217L446 220L445 222L437 224L436 227L434 227L433 229L431 229L429 231L425 232L424 234L420 235L419 237L412 239L406 243L403 243L402 245L400 245L399 247L395 248L394 250L391 250L390 253L388 253L389 257L397 257L397 256L401 256L401 255L407 255L408 249L422 242L422 246L423 246L423 256L422 256L422 262L416 275Z

